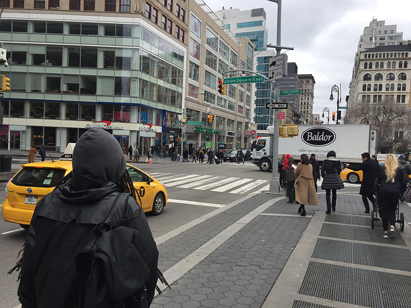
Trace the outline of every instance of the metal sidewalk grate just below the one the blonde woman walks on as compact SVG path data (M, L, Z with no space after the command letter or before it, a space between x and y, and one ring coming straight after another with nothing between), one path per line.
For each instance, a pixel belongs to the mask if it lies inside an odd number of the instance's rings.
M404 248L317 239L311 257L411 272L411 251Z

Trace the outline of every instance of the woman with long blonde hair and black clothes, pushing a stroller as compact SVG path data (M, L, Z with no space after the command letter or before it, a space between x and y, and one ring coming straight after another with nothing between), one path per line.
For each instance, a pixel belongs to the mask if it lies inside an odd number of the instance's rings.
M399 168L397 158L391 153L385 157L384 166L380 167L377 177L378 205L381 208L384 238L388 238L388 222L390 224L389 237L395 238L395 211L400 200L402 183L402 169Z

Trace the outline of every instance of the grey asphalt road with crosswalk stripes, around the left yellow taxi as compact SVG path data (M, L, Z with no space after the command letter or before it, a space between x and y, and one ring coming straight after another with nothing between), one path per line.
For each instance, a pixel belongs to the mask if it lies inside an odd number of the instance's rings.
M25 162L14 160L13 164ZM136 164L147 174L164 182L169 195L169 202L160 216L147 214L154 238L251 192L267 189L272 177L271 172L259 171L251 161L239 165L229 162L219 165L206 162L171 164L170 158L166 158L156 162L154 159L153 164ZM2 202L5 199L5 186L6 183L0 183ZM17 275L8 275L7 272L17 261L25 236L25 230L19 225L0 220L1 307L15 307L18 304Z

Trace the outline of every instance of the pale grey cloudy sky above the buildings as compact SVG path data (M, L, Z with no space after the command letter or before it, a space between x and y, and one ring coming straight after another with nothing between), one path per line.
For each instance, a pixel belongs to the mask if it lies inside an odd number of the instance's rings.
M204 0L213 10L230 7L240 10L264 8L267 13L268 43L276 44L277 4L266 0ZM411 0L283 0L281 45L288 62L295 62L299 74L315 79L314 113L337 109L330 102L331 87L340 86L342 104L348 95L354 55L364 27L372 18L397 25L404 40L411 40ZM331 116L330 116L331 117Z

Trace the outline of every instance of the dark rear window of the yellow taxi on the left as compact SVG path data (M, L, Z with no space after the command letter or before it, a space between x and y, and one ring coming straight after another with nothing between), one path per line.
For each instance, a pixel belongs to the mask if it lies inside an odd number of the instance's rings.
M54 187L63 179L66 170L24 167L11 183L17 186Z

